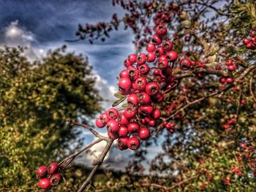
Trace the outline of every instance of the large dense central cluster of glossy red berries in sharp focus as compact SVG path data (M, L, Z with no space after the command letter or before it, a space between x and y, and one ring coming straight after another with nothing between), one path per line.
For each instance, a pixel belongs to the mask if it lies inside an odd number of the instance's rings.
M175 81L171 64L178 59L178 53L173 50L172 42L163 40L167 34L164 25L160 24L155 31L152 42L146 46L148 53L130 54L124 61L126 69L119 74L118 89L122 96L127 96L128 107L121 113L110 108L95 122L98 128L107 126L108 137L118 139L120 150L137 150L140 139L150 137L148 126L156 126L156 120L161 116L160 110L154 107L164 99L160 89L163 84L168 87ZM154 63L157 67L149 67L148 63ZM182 70L187 70L190 69L191 61L183 58L179 65ZM152 69L153 72L150 72ZM173 132L174 126L173 122L165 122L170 132Z

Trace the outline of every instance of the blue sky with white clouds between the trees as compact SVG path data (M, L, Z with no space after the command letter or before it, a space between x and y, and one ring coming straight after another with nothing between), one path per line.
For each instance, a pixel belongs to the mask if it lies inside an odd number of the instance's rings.
M88 56L89 64L93 66L97 77L96 87L100 95L108 100L102 103L103 107L110 107L115 99L113 93L117 91L116 77L124 69L124 59L134 52L131 31L113 32L106 42L95 42L94 45L87 41L65 40L77 39L75 31L78 23L84 25L108 21L114 12L122 15L122 9L112 7L110 0L0 0L0 12L0 47L27 47L26 55L31 61L61 45L67 45L69 52ZM91 124L94 124L94 120L91 120ZM105 134L106 130L104 128L99 132ZM85 138L85 145L94 140L88 131L83 131L81 138ZM105 143L102 142L92 148L91 152L100 151L104 146ZM148 158L152 158L159 147L153 146L149 151L151 155ZM123 169L131 153L121 152L113 147L106 163L110 167ZM83 154L77 162L88 165L88 162L93 161L94 155Z

